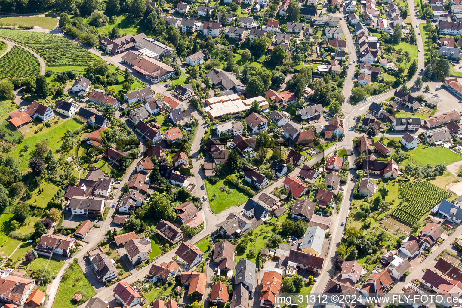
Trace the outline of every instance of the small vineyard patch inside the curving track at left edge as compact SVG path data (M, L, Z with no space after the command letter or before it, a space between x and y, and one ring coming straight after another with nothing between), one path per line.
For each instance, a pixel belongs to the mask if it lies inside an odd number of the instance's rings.
M0 79L9 77L28 77L40 74L40 62L29 51L13 46L0 57Z

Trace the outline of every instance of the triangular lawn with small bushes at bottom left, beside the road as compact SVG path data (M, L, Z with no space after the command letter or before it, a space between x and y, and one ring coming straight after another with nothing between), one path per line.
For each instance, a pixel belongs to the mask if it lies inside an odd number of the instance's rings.
M74 308L79 306L79 303L72 299L77 293L84 297L81 302L86 302L96 294L77 263L71 263L66 271L69 277L61 279L55 302L53 303L54 308Z

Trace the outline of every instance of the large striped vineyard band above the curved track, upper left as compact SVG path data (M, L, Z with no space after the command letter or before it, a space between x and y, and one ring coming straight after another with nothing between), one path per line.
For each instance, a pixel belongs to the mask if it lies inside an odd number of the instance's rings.
M32 49L43 57L47 66L83 66L95 60L89 51L53 34L0 29L0 37Z

